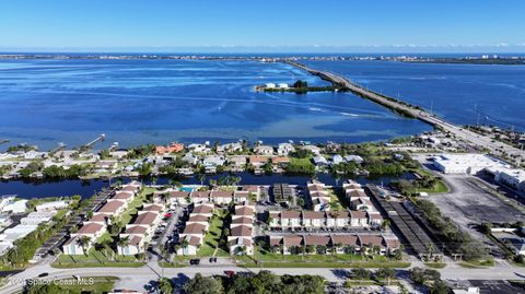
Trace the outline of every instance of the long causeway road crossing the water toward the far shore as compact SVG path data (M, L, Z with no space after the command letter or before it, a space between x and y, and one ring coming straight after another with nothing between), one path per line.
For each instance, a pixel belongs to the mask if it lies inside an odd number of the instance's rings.
M402 104L399 101L396 101L394 98L388 98L384 95L377 94L371 90L361 87L360 85L349 81L346 78L339 77L337 74L334 74L328 71L318 71L311 69L304 64L292 62L292 61L287 61L288 64L298 67L300 69L303 69L312 74L318 75L325 80L331 81L336 84L343 85L348 90L350 90L352 93L361 95L363 97L366 97L373 102L376 102L378 104L382 104L388 108L400 110L402 113L410 114L415 118L418 118L422 121L425 121L432 126L435 127L441 127L444 131L448 131L456 136L457 138L468 141L474 145L477 145L482 149L488 149L490 153L499 155L504 157L504 155L509 157L515 158L515 162L521 163L522 161L525 161L525 154L522 150L514 148L512 145L509 145L506 143L498 142L498 141L492 141L490 137L482 136L475 133L470 130L460 128L458 126L455 126L453 124L450 124L436 116L433 116L430 113L427 113L425 110L422 109L417 109L410 105Z

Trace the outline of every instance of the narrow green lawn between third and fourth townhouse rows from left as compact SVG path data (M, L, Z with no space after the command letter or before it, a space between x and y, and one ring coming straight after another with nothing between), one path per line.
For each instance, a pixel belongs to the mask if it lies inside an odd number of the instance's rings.
M198 257L211 257L215 251L215 248L219 247L219 242L222 235L222 226L224 223L224 217L228 215L226 209L217 209L213 216L210 220L210 228L206 232L205 243L200 246L197 251ZM217 250L218 257L228 257L230 254L222 248Z

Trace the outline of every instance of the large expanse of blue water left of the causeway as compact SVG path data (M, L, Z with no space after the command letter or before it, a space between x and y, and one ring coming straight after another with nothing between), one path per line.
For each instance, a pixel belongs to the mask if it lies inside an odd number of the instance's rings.
M107 146L248 139L361 142L429 130L349 93L256 93L324 81L282 63L190 60L1 60L0 139L42 150L106 134Z

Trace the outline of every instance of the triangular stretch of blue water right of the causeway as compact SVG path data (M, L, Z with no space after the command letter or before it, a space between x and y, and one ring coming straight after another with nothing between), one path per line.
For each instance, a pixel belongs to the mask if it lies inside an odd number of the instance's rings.
M525 66L305 61L454 124L525 130ZM479 116L478 116L479 114Z

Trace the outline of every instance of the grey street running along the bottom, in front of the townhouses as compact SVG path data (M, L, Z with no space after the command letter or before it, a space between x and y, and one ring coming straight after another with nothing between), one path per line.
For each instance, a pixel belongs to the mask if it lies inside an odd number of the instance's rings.
M420 262L413 262L413 266L422 267ZM30 268L23 272L12 275L8 283L0 289L0 294L10 294L22 290L23 281L34 279L39 273L47 272L48 277L44 280L59 280L75 277L104 277L115 275L120 280L115 289L128 289L143 291L144 284L155 281L160 277L168 277L175 283L182 284L187 279L195 277L196 273L203 275L224 274L224 271L252 271L270 270L276 274L318 274L329 282L343 282L346 280L345 269L329 268L272 268L272 269L245 269L235 266L199 266L186 268L161 268L156 262L150 262L142 268L77 268L77 269L55 269L49 264L40 264ZM402 270L400 270L402 271ZM497 263L488 269L466 269L456 263L450 263L446 268L440 269L442 279L447 280L516 280L525 275L525 269L511 266L509 263Z

